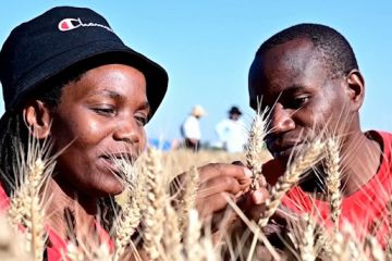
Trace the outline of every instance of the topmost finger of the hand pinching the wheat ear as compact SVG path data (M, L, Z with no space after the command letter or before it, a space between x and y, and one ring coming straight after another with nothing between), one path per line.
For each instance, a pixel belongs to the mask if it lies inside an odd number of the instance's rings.
M228 163L210 163L198 169L200 183L218 176L231 176L240 181L246 181L252 177L252 172L241 165Z

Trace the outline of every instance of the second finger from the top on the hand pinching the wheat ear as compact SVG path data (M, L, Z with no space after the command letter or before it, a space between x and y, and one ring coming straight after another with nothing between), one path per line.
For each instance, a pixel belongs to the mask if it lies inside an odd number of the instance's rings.
M232 195L237 195L238 192L245 190L250 184L250 179L247 183L240 183L236 178L231 176L220 176L212 179L208 179L200 185L197 196L200 198L209 197L210 195L217 192L230 192Z

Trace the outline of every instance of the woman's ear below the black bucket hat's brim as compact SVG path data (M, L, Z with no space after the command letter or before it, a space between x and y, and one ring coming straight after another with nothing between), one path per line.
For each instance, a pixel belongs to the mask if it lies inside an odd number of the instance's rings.
M40 100L27 102L23 109L23 117L32 135L45 139L50 134L52 115L48 105Z

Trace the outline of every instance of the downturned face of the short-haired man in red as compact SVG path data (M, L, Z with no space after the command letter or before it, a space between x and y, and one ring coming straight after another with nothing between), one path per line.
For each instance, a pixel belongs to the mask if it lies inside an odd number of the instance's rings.
M328 127L342 129L339 116L347 102L344 77L332 78L311 41L294 39L256 58L249 72L249 98L270 108L266 141L286 163L291 153ZM328 126L327 126L328 125Z

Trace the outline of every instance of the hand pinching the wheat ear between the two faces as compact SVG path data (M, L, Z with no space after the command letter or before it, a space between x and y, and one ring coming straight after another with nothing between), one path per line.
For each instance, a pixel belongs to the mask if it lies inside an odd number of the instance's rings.
M196 208L201 220L210 221L213 229L225 229L238 219L235 211L229 207L226 197L236 202L243 212L264 206L269 197L264 178L259 181L258 190L249 190L252 172L240 162L208 164L198 171L200 185Z

